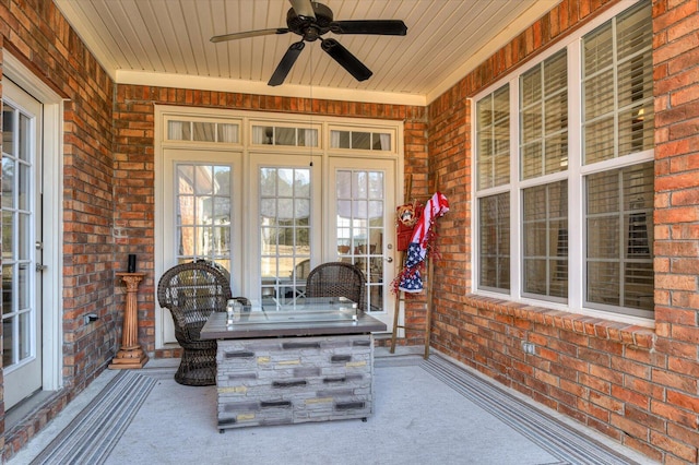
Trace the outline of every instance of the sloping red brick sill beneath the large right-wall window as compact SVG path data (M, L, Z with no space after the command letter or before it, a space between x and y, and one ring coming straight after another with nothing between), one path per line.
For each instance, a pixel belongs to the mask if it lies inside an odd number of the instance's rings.
M559 330L584 334L601 339L618 342L624 345L644 349L651 349L654 346L655 331L644 326L526 303L518 303L494 297L470 295L466 296L464 303L481 310L493 311L538 324L546 324Z

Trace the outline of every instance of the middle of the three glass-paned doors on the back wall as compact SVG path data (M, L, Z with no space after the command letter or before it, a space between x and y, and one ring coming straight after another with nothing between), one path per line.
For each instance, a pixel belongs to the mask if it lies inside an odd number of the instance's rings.
M304 296L308 271L322 260L321 172L320 156L250 155L253 300Z

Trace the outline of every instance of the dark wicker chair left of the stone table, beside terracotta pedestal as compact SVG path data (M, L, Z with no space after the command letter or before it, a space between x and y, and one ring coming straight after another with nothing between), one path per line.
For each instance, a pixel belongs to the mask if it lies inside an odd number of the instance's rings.
M209 315L225 311L232 298L229 275L215 264L199 260L166 271L157 285L157 300L175 322L175 337L182 359L175 381L186 385L216 383L216 341L201 339L199 333ZM246 298L238 298L249 305Z

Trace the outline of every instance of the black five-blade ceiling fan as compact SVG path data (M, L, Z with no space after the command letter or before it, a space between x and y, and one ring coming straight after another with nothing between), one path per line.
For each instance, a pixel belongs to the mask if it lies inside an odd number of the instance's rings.
M287 27L248 31L244 33L224 34L211 38L213 43L234 40L247 37L258 37L272 34L294 33L301 39L291 45L282 61L270 78L269 85L280 85L292 70L296 59L305 47L305 41L320 39L320 47L342 65L357 81L366 81L371 76L362 61L333 38L323 38L324 34L371 34L382 36L404 36L407 32L405 23L400 20L359 20L333 21L332 10L322 3L311 0L289 0L292 8L286 13Z

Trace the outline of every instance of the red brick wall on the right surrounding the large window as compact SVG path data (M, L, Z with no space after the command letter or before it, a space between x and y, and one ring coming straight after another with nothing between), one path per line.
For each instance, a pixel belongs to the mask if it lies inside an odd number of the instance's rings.
M664 463L699 444L699 14L653 2L655 330L470 295L472 144L465 98L616 2L564 0L429 106L429 171L450 199L433 346ZM448 168L447 168L448 167ZM443 224L442 224L443 225ZM459 239L461 238L461 240ZM449 260L451 257L454 260ZM521 342L536 346L525 354Z

